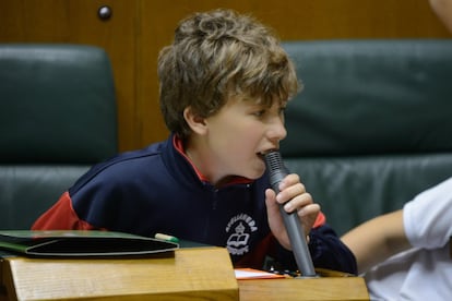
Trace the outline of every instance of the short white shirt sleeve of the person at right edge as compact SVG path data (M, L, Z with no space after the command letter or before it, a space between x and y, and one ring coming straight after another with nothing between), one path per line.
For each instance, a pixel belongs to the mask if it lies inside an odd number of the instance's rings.
M413 246L438 249L452 237L452 178L405 204L403 221Z

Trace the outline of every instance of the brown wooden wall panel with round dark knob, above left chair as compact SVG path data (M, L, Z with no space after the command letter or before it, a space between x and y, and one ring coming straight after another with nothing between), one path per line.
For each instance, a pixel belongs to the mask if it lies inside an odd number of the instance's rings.
M100 5L112 16L102 21ZM135 7L122 0L2 0L0 43L74 43L100 46L110 56L117 87L119 147L136 146ZM68 116L70 120L70 115Z

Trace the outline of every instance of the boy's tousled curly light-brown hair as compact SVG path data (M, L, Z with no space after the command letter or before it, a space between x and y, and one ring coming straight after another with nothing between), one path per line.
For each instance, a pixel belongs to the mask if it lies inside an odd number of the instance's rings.
M271 106L299 91L294 65L272 29L230 10L195 13L179 23L158 56L160 110L167 128L190 134L183 110L215 115L231 95Z

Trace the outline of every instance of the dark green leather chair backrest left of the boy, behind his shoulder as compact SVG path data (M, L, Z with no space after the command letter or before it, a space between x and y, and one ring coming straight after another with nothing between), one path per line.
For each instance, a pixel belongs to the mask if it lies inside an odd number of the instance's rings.
M28 229L117 153L111 65L97 47L0 45L0 229Z

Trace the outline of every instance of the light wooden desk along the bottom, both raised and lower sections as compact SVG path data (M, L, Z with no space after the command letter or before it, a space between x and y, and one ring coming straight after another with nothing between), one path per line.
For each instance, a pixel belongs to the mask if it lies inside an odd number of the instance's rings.
M360 277L235 278L222 248L163 258L0 258L0 300L369 300ZM1 287L1 286L0 286Z

